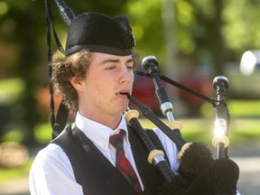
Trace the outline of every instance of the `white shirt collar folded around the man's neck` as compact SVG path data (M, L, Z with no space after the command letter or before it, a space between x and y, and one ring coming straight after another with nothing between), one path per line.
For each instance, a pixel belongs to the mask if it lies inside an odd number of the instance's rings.
M110 135L116 135L119 133L120 129L125 131L125 138L127 143L129 143L128 139L128 130L125 118L121 117L120 124L116 127L115 130L109 128L106 125L99 124L96 121L90 120L89 118L82 116L79 112L76 115L75 125L79 127L79 129L94 143L98 144L103 150L107 151L109 145L109 137Z

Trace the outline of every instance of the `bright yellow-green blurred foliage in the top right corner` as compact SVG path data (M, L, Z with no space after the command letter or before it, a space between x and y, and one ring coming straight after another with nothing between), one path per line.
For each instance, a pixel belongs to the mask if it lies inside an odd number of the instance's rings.
M260 2L255 0L229 0L223 10L223 34L227 47L237 56L248 49L259 49Z

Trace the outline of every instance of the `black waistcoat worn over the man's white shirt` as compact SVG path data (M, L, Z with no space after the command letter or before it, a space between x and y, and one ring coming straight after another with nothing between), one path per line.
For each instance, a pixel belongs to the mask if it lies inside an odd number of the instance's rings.
M153 165L147 162L148 153L144 145L131 130L128 132L135 163L144 183L143 194L156 194L157 187L162 184L163 178L159 172L154 170ZM71 131L69 126L53 143L59 144L69 157L76 181L82 186L84 194L135 194L124 176L100 153L78 127Z

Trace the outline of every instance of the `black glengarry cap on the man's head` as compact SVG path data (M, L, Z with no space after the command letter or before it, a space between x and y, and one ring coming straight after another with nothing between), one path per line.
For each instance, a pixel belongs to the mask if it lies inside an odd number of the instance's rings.
M82 49L126 56L132 54L135 38L124 15L111 18L94 12L79 14L70 23L65 55Z

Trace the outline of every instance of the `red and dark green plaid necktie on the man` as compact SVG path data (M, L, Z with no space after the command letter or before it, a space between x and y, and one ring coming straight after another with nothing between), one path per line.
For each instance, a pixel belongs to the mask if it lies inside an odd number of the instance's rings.
M126 181L128 181L129 184L134 188L135 193L141 194L142 189L135 171L125 157L123 146L124 135L125 131L121 129L119 134L110 136L109 139L110 144L113 144L116 147L116 168L124 175Z

